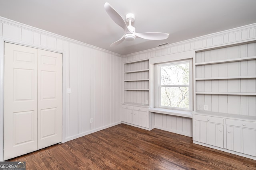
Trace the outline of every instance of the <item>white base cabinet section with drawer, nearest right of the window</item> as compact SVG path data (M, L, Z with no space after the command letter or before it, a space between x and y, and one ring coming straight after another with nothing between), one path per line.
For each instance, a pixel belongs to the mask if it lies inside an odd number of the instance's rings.
M195 115L195 124L195 141L223 148L223 118Z

